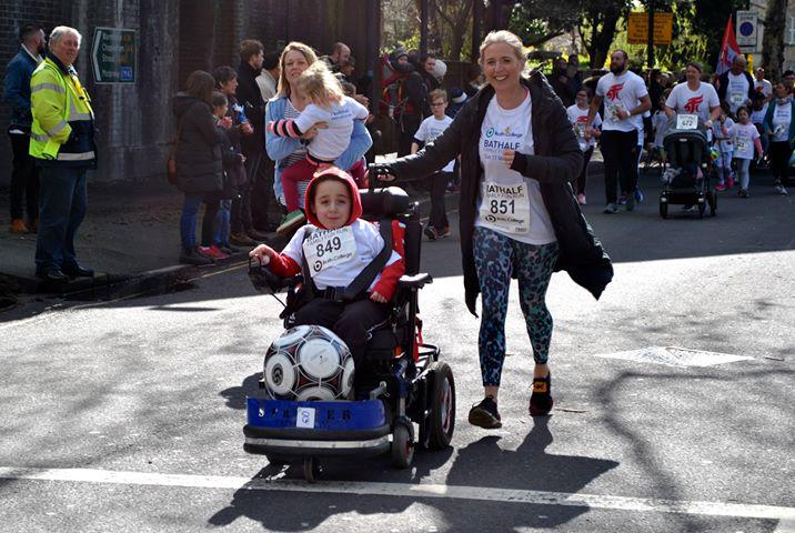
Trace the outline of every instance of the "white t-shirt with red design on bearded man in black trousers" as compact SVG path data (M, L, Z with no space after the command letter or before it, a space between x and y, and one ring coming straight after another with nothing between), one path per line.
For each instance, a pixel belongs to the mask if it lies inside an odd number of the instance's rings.
M648 95L643 78L628 70L621 76L608 72L596 83L596 95L604 99L604 131L632 131L643 128L640 114L618 120L616 113L627 113L641 104L641 99Z

